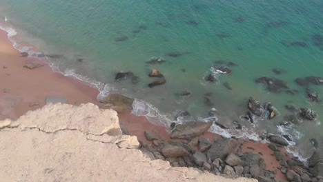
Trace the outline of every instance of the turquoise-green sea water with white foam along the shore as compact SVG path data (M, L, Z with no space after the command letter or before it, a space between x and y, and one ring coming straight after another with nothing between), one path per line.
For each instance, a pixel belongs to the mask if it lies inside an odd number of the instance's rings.
M213 132L253 139L264 131L289 134L304 157L311 153L309 139L322 136L322 103L311 103L305 88L294 80L323 77L323 43L313 41L315 34L323 36L323 1L0 0L0 7L0 16L17 30L19 43L35 45L45 54L63 55L50 58L53 66L97 81L99 97L121 92L137 98L135 114L144 114L153 123L168 125L176 112L184 110L193 119L204 119L216 108L217 118L231 130L213 126ZM116 41L121 37L126 40ZM292 42L302 42L304 47ZM170 52L189 54L169 57ZM149 65L146 61L151 57L166 62ZM217 83L204 81L213 62L219 60L237 66L230 76L217 74ZM153 68L164 74L165 85L148 88L154 79L147 75ZM275 75L273 68L286 72ZM139 83L115 82L115 74L121 71L133 72ZM268 92L255 83L263 76L282 79L299 93ZM227 90L224 82L233 90ZM310 87L323 95L322 86ZM191 92L190 97L177 97L175 93L181 91ZM206 92L213 93L213 106L205 105ZM271 101L279 116L255 124L239 119L249 97ZM292 128L277 128L277 121L288 114L286 104L313 108L319 117ZM233 121L242 123L244 132L235 130Z

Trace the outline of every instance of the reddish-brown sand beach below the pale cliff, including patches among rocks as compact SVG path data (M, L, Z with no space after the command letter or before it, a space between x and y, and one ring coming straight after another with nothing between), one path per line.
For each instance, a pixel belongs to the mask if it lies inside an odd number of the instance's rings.
M17 119L29 110L36 110L46 105L46 97L61 97L67 100L67 103L79 105L81 103L94 103L102 107L103 104L97 101L99 90L91 88L86 83L66 77L58 72L53 72L45 62L28 57L21 57L18 50L12 48L12 43L7 37L7 32L0 30L0 60L3 74L1 79L0 101L0 119ZM11 48L10 48L10 46ZM5 60L5 61L2 61ZM23 68L26 63L40 63L43 66L28 70ZM4 68L6 67L6 68ZM41 77L39 77L41 76ZM35 89L37 88L37 89ZM32 94L31 94L32 93ZM37 103L37 105L36 105ZM32 106L30 106L32 105ZM124 125L129 134L138 137L138 140L144 143L148 141L144 132L153 132L159 136L159 139L170 141L170 134L166 128L153 125L146 117L137 117L133 114L119 114L119 122ZM219 139L221 136L211 132L206 132L202 137L214 141L214 137ZM280 161L271 155L272 150L268 148L269 143L254 143L248 139L244 140L242 152L262 153L262 157L267 164L267 170L277 170L275 179L286 181L286 176L278 169ZM286 150L281 150L286 155Z

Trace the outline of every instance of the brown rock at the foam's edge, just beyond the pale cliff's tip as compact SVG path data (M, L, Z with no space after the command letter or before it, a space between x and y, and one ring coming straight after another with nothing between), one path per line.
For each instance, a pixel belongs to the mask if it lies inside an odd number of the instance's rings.
M133 110L133 101L134 99L121 94L109 94L108 97L100 100L101 103L112 103L115 106L124 108L128 112Z

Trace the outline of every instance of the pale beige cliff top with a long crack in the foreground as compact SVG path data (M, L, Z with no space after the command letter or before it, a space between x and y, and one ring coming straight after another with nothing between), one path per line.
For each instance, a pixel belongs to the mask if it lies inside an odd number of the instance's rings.
M46 105L0 121L1 181L256 181L151 161L117 113L91 103Z

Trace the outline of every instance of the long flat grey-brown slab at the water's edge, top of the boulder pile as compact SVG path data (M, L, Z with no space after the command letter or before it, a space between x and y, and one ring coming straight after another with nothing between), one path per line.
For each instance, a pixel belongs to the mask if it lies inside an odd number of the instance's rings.
M190 139L195 136L200 136L208 130L212 122L190 121L176 126L173 133L170 134L172 139Z

